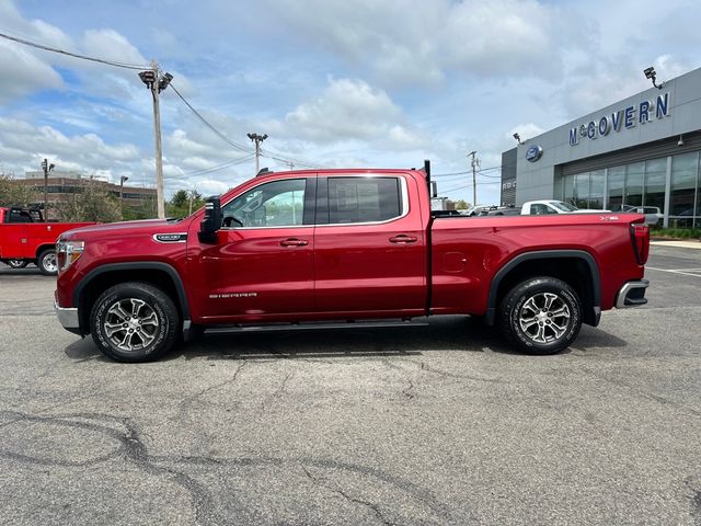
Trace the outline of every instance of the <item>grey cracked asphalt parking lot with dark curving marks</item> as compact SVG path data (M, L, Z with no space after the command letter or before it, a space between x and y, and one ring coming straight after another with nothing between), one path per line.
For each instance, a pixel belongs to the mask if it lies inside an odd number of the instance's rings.
M547 357L450 317L124 365L0 266L3 524L701 525L701 250Z

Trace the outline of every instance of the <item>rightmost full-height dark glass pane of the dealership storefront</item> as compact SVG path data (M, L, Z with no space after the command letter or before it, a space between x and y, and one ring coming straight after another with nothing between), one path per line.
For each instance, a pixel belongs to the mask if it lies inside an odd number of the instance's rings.
M669 226L687 228L693 226L699 174L699 152L683 153L671 158L671 195L669 196Z

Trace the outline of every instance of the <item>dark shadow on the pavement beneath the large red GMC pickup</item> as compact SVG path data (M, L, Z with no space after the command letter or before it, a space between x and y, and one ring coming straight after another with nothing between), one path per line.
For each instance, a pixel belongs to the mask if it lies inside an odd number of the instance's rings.
M625 345L621 339L584 325L575 345L556 356ZM484 325L479 319L436 317L428 325L206 333L194 342L181 343L161 361L363 358L416 356L435 351L521 354L505 342L497 329ZM66 355L79 362L108 359L90 336L66 347Z

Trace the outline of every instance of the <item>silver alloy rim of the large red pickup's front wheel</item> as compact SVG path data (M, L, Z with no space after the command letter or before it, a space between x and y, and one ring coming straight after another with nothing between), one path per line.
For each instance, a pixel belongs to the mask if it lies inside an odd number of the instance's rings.
M150 345L158 334L160 322L156 311L143 300L124 298L107 309L104 333L113 345L134 352Z

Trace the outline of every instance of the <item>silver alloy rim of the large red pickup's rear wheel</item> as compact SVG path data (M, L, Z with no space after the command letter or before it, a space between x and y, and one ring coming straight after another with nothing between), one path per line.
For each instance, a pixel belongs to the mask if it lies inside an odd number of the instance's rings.
M536 343L561 339L572 315L567 304L556 294L539 293L528 298L518 311L521 331Z

